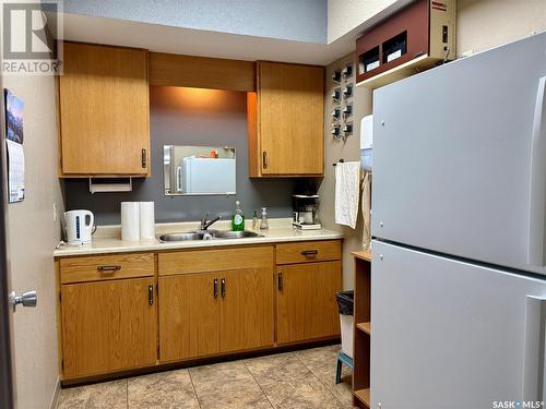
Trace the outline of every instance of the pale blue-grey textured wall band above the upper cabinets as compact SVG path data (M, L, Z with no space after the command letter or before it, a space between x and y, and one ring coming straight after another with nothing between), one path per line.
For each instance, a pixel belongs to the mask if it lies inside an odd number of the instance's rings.
M64 0L62 5L67 13L95 17L327 43L327 0Z

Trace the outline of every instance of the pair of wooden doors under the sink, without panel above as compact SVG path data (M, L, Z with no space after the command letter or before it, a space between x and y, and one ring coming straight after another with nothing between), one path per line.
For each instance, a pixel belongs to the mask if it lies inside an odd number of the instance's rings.
M274 344L273 267L159 277L159 294L161 361Z

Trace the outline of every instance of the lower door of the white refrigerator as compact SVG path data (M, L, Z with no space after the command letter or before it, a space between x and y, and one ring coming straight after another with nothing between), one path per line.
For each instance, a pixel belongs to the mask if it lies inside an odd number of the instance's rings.
M378 241L372 254L372 408L542 400L546 280Z

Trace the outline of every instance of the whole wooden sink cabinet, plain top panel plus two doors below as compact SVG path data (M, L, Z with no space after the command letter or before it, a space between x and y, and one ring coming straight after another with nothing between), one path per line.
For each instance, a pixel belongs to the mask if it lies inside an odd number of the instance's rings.
M159 358L274 344L273 248L159 254Z

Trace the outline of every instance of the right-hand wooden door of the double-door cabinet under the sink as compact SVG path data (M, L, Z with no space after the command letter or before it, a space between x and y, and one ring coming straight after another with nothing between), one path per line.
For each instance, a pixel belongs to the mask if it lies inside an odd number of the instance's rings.
M222 352L272 346L273 266L221 272L218 275Z

